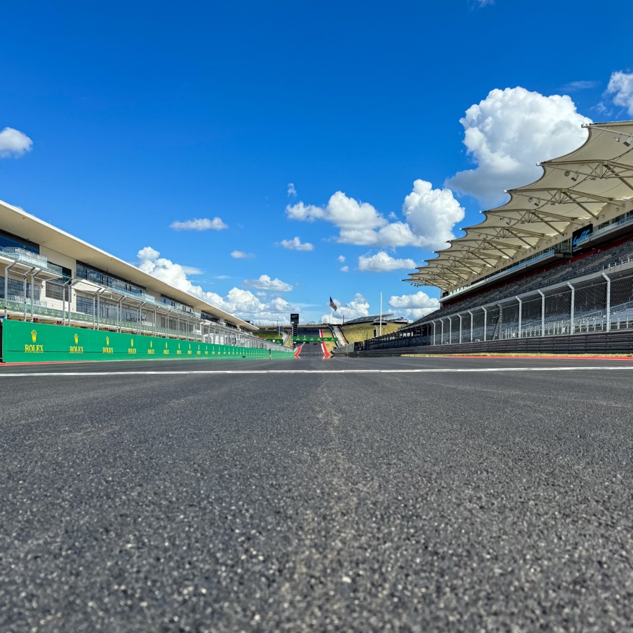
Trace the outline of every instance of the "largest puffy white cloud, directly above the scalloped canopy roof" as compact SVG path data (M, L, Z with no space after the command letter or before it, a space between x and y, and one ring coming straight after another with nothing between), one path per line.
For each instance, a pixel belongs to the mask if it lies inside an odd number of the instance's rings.
M476 167L456 173L446 184L482 203L499 204L505 189L540 177L537 162L579 147L587 138L581 126L590 122L568 96L544 96L522 87L494 89L460 119Z

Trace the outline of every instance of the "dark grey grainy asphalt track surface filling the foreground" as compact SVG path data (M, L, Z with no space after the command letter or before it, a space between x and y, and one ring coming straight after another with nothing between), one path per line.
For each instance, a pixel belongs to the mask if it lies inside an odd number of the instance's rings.
M631 630L632 380L592 359L1 367L0 631Z

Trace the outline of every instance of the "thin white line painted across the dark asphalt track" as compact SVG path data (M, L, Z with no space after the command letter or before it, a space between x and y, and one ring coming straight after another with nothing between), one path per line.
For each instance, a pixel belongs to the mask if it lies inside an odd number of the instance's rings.
M594 367L481 367L481 368L444 368L444 369L270 369L270 370L177 370L135 371L135 372L24 372L0 373L0 378L27 378L43 376L184 376L184 375L223 375L223 374L260 374L260 373L484 373L484 372L588 372L588 371L626 371L633 365L596 365Z

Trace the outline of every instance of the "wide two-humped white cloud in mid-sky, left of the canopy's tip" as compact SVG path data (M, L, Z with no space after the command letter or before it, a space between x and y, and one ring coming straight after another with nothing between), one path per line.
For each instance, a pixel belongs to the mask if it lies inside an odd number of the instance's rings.
M405 222L389 222L371 204L357 201L342 191L332 195L325 206L299 202L286 207L291 220L325 220L339 229L337 241L359 246L422 246L442 248L453 239L451 232L464 210L449 189L433 189L430 182L416 180L404 199Z

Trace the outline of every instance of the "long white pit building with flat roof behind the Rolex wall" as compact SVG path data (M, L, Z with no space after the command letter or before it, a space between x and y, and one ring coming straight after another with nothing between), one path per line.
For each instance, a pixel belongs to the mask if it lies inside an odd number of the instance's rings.
M1 201L0 310L5 322L284 350L251 323Z

